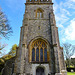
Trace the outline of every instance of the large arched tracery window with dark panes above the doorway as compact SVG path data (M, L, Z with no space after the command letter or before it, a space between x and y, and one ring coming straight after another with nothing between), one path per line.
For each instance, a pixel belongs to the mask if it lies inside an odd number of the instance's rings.
M30 57L32 57L31 62L48 62L48 50L47 50L47 43L44 40L37 39L35 40L32 45L31 52L32 54Z

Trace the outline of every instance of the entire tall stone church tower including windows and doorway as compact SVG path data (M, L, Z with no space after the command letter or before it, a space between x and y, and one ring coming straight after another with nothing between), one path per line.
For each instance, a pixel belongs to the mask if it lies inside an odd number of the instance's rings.
M27 0L13 75L67 75L52 0Z

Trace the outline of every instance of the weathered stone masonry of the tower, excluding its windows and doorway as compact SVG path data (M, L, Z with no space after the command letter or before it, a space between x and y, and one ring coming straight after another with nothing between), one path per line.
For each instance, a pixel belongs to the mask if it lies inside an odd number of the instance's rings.
M37 11L42 12L41 18L37 18ZM62 75L65 70L63 50L59 44L58 28L56 27L55 16L53 13L52 1L27 1L23 26L20 33L20 45L15 60L15 74L36 75L37 67L43 67L45 75ZM48 63L31 63L30 46L33 41L43 39L48 44ZM20 60L20 61L19 61ZM65 72L64 72L65 73ZM64 74L63 73L63 74Z

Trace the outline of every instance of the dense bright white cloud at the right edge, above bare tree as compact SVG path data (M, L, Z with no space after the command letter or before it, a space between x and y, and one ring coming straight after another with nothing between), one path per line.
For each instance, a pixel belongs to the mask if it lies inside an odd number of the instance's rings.
M62 42L75 41L75 18L73 18L67 27L60 31Z

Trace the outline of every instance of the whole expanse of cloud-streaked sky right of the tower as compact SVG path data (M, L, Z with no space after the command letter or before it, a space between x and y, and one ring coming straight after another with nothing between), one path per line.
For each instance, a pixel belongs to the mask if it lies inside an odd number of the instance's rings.
M61 42L75 41L75 0L61 1L59 4L54 1L54 13L56 25L59 28ZM71 20L71 18L73 18Z

